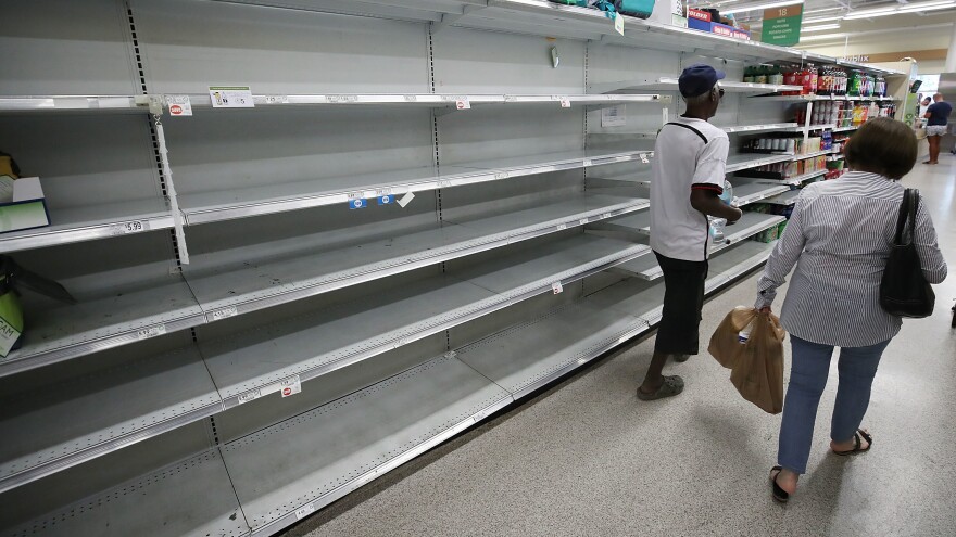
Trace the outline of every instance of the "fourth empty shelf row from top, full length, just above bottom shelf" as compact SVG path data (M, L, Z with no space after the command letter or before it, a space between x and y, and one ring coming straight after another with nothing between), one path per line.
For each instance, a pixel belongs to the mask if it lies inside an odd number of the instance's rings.
M551 292L649 252L581 234L345 305L138 357L0 405L0 491ZM267 359L264 359L267 357ZM173 389L171 389L173 387ZM305 386L309 389L309 386Z

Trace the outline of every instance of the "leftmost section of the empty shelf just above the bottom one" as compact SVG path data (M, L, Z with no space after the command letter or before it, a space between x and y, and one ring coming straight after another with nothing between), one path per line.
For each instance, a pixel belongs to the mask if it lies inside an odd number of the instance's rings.
M222 410L194 347L0 400L0 493Z

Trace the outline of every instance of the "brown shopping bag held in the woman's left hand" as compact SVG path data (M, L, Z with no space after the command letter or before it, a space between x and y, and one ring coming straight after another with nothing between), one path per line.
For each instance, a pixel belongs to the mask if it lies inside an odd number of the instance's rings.
M746 341L741 342L740 331L747 325L751 328L750 334ZM732 341L729 336L731 330L735 330ZM721 365L725 361L730 363L725 367L731 368L730 382L740 395L771 414L783 410L785 335L777 316L760 314L752 308L734 308L710 338L710 354Z

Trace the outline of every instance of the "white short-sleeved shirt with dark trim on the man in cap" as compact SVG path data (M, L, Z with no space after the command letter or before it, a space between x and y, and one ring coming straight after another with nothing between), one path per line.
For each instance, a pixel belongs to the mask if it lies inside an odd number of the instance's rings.
M687 261L707 259L707 216L691 205L691 190L724 192L727 133L703 119L678 117L654 144L651 247Z

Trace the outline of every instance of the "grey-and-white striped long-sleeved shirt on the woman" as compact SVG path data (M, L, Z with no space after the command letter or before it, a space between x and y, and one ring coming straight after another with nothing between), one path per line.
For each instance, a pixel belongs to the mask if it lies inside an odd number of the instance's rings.
M861 171L807 186L767 260L755 306L770 306L796 265L780 314L788 332L840 347L876 345L895 336L902 319L880 307L880 279L904 190L896 181ZM942 282L946 261L922 200L914 242L927 281Z

